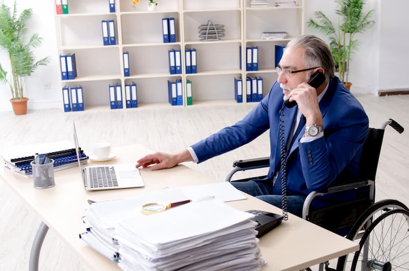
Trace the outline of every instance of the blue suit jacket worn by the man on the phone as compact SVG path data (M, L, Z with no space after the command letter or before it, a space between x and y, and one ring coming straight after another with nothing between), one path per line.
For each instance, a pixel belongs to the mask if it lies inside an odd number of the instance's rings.
M320 101L324 123L324 137L300 143L304 129L289 147L286 160L287 193L308 195L311 191L327 188L342 171L359 176L359 159L362 144L368 132L368 116L356 98L337 77L329 82L327 92ZM283 92L276 81L264 99L241 121L225 127L210 137L192 145L199 163L251 142L270 129L270 169L266 179L272 179L280 166L280 109ZM284 107L286 142L297 114L298 106ZM272 194L281 195L281 182L277 180ZM338 193L321 201L345 201L354 198L351 193Z

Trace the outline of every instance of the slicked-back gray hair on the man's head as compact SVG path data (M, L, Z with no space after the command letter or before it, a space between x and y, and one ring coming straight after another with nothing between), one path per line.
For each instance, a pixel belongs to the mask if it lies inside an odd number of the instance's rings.
M323 67L327 80L334 77L334 59L324 40L313 35L302 35L290 40L287 47L304 48L303 63L306 67Z

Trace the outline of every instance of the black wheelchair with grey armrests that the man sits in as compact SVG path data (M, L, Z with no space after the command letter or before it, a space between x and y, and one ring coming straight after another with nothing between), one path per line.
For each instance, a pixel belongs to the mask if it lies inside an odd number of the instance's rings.
M375 202L375 175L384 130L388 125L399 133L404 130L392 119L382 123L380 128L369 128L360 158L359 178L349 178L342 172L330 187L311 192L304 201L303 219L359 242L357 252L337 259L336 269L326 262L320 264L320 271L324 268L327 271L409 270L409 209L398 200L385 199ZM232 176L238 171L264 167L269 167L269 157L234 161L226 181L233 182ZM245 178L234 182L264 177ZM361 188L367 189L369 193L352 202L322 209L316 209L311 204L319 195Z

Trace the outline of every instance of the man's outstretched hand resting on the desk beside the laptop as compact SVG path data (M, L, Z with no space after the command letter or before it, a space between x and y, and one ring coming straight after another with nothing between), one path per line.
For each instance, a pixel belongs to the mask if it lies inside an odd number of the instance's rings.
M193 161L192 156L188 150L181 151L179 153L165 153L165 152L155 152L152 154L148 154L142 157L140 160L137 161L136 167L144 167L146 168L149 165L154 166L151 167L151 170L158 170L164 168L173 168L177 164L181 162L188 162Z

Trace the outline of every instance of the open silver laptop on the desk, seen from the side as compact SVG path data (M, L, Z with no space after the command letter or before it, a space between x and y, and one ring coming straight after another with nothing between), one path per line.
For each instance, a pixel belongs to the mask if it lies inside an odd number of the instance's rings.
M139 169L133 164L115 164L83 167L79 156L77 130L74 125L75 150L85 190L108 190L143 187Z

